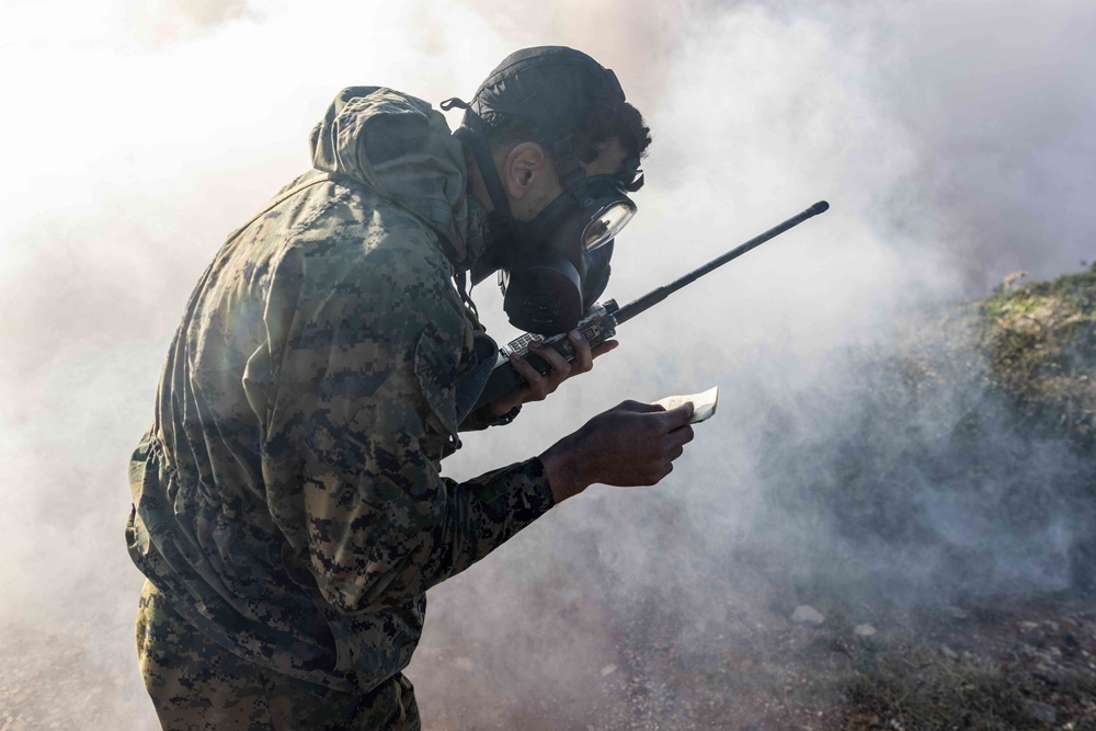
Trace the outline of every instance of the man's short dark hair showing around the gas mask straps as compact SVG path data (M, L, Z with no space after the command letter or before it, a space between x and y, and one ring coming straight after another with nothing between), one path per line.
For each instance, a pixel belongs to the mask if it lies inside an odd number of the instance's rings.
M533 119L486 111L482 114L487 141L491 149L533 141L548 147ZM563 135L574 139L574 151L583 162L593 162L598 150L614 137L628 155L647 155L651 144L651 129L643 116L628 102L603 100L585 107L566 110L556 117L556 125ZM641 139L632 130L640 130ZM551 152L548 149L549 153Z

